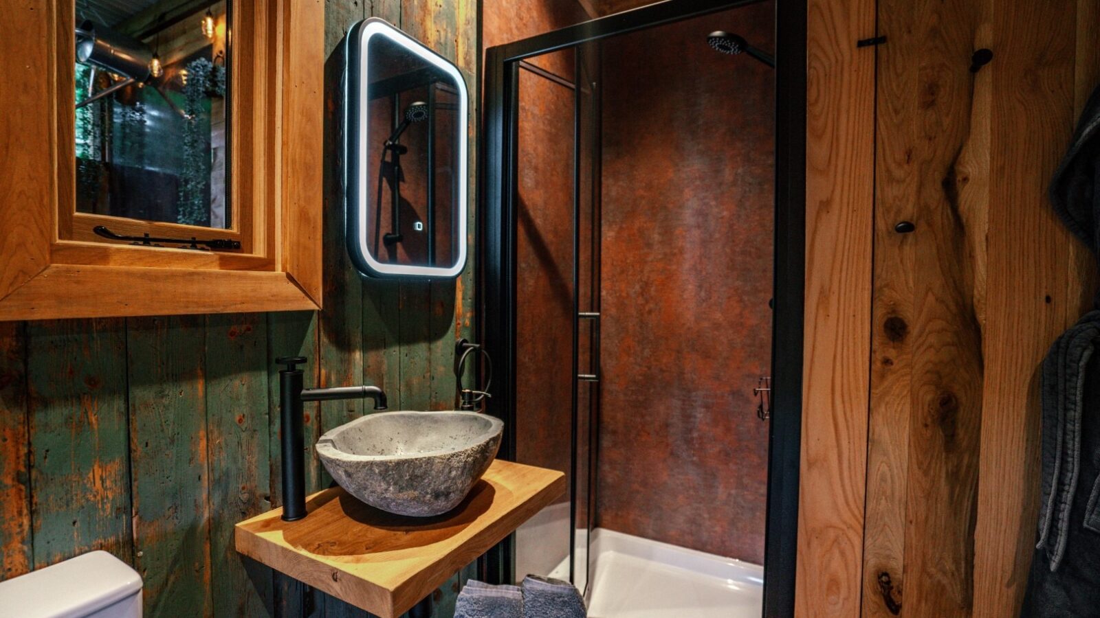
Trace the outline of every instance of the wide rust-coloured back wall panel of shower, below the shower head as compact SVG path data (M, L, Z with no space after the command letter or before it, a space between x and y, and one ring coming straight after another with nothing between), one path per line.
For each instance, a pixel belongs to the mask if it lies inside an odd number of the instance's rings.
M770 372L772 2L609 40L598 525L761 562Z

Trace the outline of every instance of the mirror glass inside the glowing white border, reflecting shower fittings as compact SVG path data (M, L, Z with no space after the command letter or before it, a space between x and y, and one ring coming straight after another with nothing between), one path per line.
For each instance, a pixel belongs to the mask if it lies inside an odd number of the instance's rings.
M464 89L387 36L367 42L366 240L384 264L450 268L460 260Z

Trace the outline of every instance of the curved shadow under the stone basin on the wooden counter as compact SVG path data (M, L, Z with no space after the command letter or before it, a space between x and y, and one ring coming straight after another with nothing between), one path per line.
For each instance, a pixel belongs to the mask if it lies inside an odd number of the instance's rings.
M349 556L395 552L431 545L458 534L493 505L496 489L484 479L474 484L470 495L450 512L437 517L407 517L394 515L369 506L345 492L329 492L309 501L307 508L316 511L332 500L354 525L344 527L344 533L319 533L316 526L279 522L284 538L292 547L317 555ZM302 522L309 521L307 517Z

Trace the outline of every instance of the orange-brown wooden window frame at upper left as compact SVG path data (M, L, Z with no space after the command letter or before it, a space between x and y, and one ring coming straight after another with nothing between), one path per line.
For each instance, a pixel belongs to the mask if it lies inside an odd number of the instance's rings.
M75 212L73 0L3 11L0 320L319 309L324 7L233 7L231 230ZM237 238L240 252L136 246L119 233Z

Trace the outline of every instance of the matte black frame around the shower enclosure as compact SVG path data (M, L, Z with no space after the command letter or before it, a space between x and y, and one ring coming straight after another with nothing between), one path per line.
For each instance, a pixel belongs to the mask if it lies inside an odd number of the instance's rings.
M479 325L481 340L494 358L497 375L503 376L495 383L495 393L486 407L488 413L505 421L501 446L503 459L514 460L516 456L515 206L520 62L592 41L759 1L666 0L486 51L479 173L479 291L482 309ZM806 2L777 0L776 5L773 411L768 451L766 617L794 615L805 279ZM580 115L574 114L574 135L580 122ZM574 175L576 169L574 166ZM578 178L574 177L574 192L578 186ZM574 221L574 228L575 224ZM514 543L515 538L509 537L486 554L483 577L497 583L514 578Z

